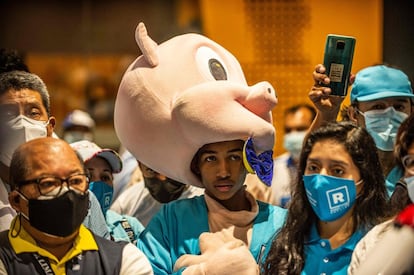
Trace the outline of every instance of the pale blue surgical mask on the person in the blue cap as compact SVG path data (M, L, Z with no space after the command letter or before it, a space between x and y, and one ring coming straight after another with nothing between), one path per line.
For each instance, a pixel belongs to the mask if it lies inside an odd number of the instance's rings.
M393 151L398 127L408 115L396 111L394 107L365 113L359 111L359 113L365 117L367 131L374 139L377 148L382 151Z

